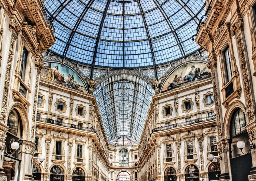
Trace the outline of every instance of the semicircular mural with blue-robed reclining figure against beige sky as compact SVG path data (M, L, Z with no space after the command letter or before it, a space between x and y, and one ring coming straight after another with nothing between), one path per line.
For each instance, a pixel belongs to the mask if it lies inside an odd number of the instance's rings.
M211 72L207 64L200 62L187 63L186 66L178 67L171 73L163 84L161 92L174 89L191 81L200 81L210 76Z

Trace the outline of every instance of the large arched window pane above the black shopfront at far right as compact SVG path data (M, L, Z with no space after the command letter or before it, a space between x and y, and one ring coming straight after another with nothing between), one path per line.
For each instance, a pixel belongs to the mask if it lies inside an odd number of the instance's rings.
M245 130L246 119L244 112L238 108L234 111L230 122L230 137L234 137Z

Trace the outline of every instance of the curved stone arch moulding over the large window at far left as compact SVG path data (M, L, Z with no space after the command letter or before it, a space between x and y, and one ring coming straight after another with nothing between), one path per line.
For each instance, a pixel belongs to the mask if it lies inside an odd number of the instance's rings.
M9 106L9 109L8 109L8 112L7 112L7 115L9 117L9 114L11 112L11 110L15 109L18 113L19 113L19 116L20 116L20 119L21 119L21 123L22 123L22 139L29 139L29 135L30 135L30 130L29 130L29 119L28 119L28 116L27 116L27 110L26 108L24 107L24 105L20 102L13 102L10 106ZM7 123L7 120L6 119L6 123Z

